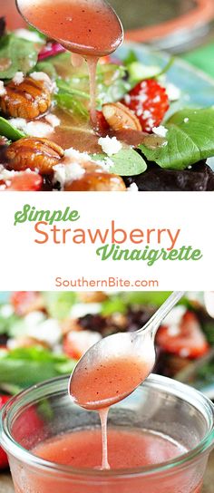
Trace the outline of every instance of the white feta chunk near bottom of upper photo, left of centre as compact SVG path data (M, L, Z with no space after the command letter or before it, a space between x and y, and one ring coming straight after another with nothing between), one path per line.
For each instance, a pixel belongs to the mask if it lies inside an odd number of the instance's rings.
M53 171L54 183L59 182L62 189L66 183L74 179L81 179L85 173L85 169L77 162L73 162L72 164L56 164L56 166L53 166Z

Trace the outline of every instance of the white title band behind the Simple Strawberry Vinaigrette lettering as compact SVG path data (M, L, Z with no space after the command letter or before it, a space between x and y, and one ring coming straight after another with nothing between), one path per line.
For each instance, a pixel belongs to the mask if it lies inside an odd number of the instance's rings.
M185 193L2 193L0 197L1 271L0 290L54 290L55 277L65 279L88 277L106 278L109 275L130 279L157 279L157 290L213 290L214 289L214 194L212 192ZM93 230L109 227L112 219L118 227L181 229L176 248L191 245L202 250L199 261L158 261L147 266L142 261L102 262L96 247L73 245L45 245L34 243L34 223L14 226L15 211L24 204L37 209L78 209L81 219L75 223L57 223L58 227ZM122 248L145 247L126 243ZM160 248L152 243L152 248ZM168 245L161 244L161 247ZM59 289L59 288L58 288ZM60 288L62 289L62 288ZM72 290L73 288L67 288ZM76 289L76 288L74 288ZM97 289L97 288L92 288ZM122 290L125 288L122 287ZM140 290L139 287L128 287ZM148 290L148 287L145 289ZM151 289L151 288L150 288ZM83 290L88 290L83 287Z

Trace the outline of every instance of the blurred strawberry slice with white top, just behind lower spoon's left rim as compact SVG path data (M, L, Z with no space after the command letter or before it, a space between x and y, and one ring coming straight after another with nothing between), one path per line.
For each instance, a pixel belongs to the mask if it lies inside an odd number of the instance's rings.
M93 331L73 331L67 333L63 339L63 352L73 358L79 360L83 354L98 343L102 338L101 334Z

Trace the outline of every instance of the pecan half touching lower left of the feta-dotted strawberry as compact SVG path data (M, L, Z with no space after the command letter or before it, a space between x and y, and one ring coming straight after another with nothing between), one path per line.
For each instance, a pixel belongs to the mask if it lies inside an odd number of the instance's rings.
M102 113L113 131L127 129L141 131L140 121L122 102L107 102L103 104Z

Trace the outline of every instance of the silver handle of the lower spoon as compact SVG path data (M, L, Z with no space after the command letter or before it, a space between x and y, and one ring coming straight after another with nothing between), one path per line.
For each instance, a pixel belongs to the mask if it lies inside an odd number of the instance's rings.
M180 301L180 298L185 294L185 291L174 291L167 300L161 304L160 308L151 316L151 319L147 324L137 331L137 333L144 333L145 331L150 332L151 336L154 338L160 323L163 321L165 316L170 313L171 308Z

